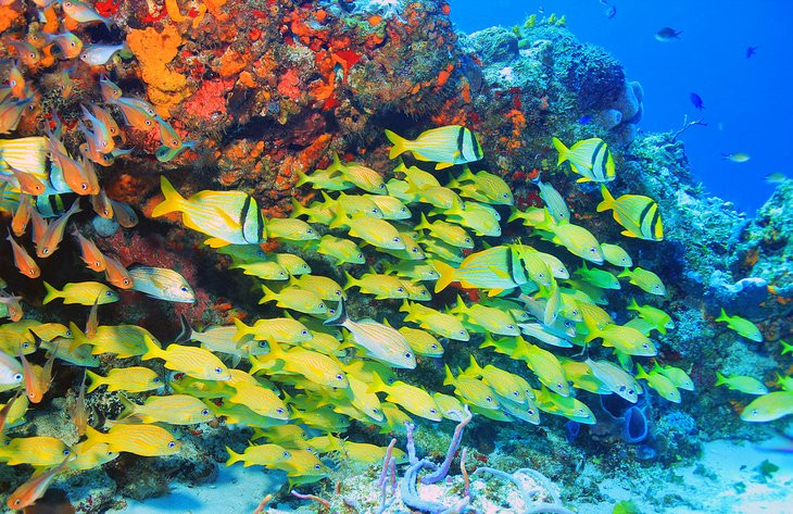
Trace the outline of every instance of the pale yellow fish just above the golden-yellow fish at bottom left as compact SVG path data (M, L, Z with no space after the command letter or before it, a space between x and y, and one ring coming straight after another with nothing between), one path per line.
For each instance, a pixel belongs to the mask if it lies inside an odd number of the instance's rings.
M118 397L124 410L118 419L135 417L142 423L167 423L168 425L194 425L214 418L212 412L199 400L187 394L149 397L138 405L123 394Z

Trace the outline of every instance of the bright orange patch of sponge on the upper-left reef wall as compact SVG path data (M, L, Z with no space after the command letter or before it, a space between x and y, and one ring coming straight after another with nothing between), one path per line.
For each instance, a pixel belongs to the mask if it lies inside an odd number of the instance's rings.
M149 86L149 99L155 105L158 114L164 118L169 117L169 109L189 95L187 77L166 66L181 46L179 32L173 25L166 25L162 33L153 27L144 30L133 29L127 35L127 45L138 58L141 79Z

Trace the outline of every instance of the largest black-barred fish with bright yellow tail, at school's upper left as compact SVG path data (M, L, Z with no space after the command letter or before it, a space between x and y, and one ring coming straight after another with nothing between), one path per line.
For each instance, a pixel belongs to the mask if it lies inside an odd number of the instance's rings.
M267 239L262 211L256 200L242 191L200 191L185 199L164 176L160 186L165 199L152 211L152 217L181 213L186 227L211 236L212 248L227 245L260 245Z

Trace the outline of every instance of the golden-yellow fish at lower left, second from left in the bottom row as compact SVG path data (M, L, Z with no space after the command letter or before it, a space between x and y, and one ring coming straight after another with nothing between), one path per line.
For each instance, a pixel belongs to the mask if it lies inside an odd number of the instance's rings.
M181 444L171 432L156 425L119 423L113 425L108 434L86 427L84 448L90 450L95 444L108 444L108 451L127 452L142 456L163 456L178 453Z

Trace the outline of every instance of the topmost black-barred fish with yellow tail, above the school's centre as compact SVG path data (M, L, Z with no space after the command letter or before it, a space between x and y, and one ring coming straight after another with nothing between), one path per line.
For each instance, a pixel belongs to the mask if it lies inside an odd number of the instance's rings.
M419 161L437 162L436 170L482 158L482 147L474 133L460 125L425 130L413 141L401 138L390 130L386 130L386 136L394 145L389 155L391 159L404 151L411 151Z

